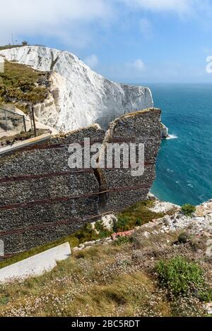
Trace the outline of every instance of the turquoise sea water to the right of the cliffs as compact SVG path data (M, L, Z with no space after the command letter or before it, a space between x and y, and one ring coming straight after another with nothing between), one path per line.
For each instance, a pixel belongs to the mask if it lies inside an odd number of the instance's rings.
M172 139L163 141L152 192L198 205L212 198L212 84L150 85Z

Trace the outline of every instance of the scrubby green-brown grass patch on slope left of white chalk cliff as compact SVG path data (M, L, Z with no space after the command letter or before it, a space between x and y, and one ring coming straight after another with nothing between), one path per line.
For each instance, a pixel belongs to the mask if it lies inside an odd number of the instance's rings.
M0 102L14 102L17 106L23 102L43 102L48 92L48 75L23 64L6 61L4 73L0 73ZM23 108L21 110L28 111L28 107Z

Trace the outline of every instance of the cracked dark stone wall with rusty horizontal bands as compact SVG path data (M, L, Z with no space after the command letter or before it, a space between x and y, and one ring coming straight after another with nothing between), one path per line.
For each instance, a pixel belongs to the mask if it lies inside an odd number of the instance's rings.
M145 171L70 169L69 145L143 143ZM155 179L161 142L160 109L123 115L105 132L98 125L50 136L45 143L7 151L0 157L0 239L5 258L67 236L102 213L145 200ZM100 157L102 151L100 151Z

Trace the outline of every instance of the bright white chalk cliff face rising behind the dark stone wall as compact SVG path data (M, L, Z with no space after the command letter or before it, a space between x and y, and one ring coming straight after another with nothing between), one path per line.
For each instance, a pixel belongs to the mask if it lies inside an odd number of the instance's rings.
M8 61L52 71L51 93L37 104L37 120L58 131L107 124L122 114L153 107L151 90L114 83L90 70L77 56L47 47L18 47L0 54Z

